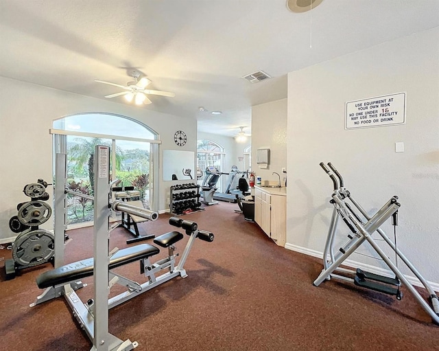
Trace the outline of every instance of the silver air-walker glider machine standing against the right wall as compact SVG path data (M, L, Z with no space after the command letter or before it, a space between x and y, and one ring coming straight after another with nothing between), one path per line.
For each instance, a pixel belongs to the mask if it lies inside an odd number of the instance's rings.
M362 286L364 288L370 288L374 291L379 291L381 293L386 293L389 295L396 295L396 299L402 298L402 293L399 289L402 284L407 288L415 299L418 301L420 306L431 316L436 324L439 324L439 298L435 291L428 282L423 278L422 275L417 271L413 264L403 255L403 253L396 247L396 243L392 242L390 238L384 233L380 228L383 223L389 218L392 218L392 225L397 225L397 214L399 207L401 205L397 202L398 197L392 196L392 198L381 207L373 216L369 216L367 212L353 199L351 192L344 188L344 181L341 174L335 169L335 167L328 163L330 168L321 162L320 167L323 168L331 180L333 181L333 194L331 196L331 203L333 204L333 214L331 217L331 223L329 225L329 231L327 236L327 242L324 246L323 253L323 266L324 269L318 278L313 282L313 285L318 286L324 280L330 280L331 278L337 278L344 281L353 282L357 286ZM331 172L332 171L332 172ZM334 175L335 174L335 175ZM347 202L349 200L349 203ZM352 207L351 204L355 206ZM355 210L356 209L356 210ZM359 211L359 213L357 212ZM365 218L366 220L362 219ZM351 234L348 235L348 242L344 247L340 247L339 251L335 253L334 251L334 240L335 232L337 231L337 223L339 218L342 218L344 223L351 229ZM372 234L377 231L381 236L381 240L384 240L390 248L395 253L396 264L394 264L385 252L377 245L375 239L372 238ZM375 273L368 273L357 269L352 271L350 269L341 268L340 265L351 256L352 253L364 242L369 242L370 246L375 249L382 260L388 265L388 267L395 274L395 278L389 278L382 275L377 275ZM397 260L401 259L406 267L412 271L412 273L418 278L418 280L423 284L424 288L429 294L428 304L425 299L416 291L414 286L405 278L405 275L401 273L397 267ZM346 275L335 274L335 271L345 273L347 275L353 274L354 277L350 278ZM393 286L396 286L394 288Z

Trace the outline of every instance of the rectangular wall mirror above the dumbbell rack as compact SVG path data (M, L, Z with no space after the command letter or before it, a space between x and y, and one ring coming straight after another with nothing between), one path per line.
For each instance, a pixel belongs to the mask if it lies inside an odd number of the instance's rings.
M191 176L195 174L195 152L180 150L163 150L163 181L191 179L183 172L191 170ZM173 179L175 174L176 179Z

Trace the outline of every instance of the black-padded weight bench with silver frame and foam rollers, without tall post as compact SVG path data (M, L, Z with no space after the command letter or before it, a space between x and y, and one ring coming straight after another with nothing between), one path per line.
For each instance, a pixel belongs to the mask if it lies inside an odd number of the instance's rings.
M117 208L122 210L123 208L124 210L130 210L130 212L133 212L134 214L134 209L126 207L126 205L121 205L121 203L113 203L112 208L114 210L117 210ZM142 212L137 213L142 214ZM64 296L73 311L73 316L78 320L78 324L84 332L86 332L88 338L93 341L94 346L96 344L102 346L102 341L105 342L105 340L102 337L96 339L98 332L101 331L99 328L102 328L103 320L102 318L99 319L99 309L104 312L102 313L101 311L100 315L105 315L110 308L123 304L146 291L150 291L152 288L163 284L168 280L178 276L186 278L187 273L183 266L189 256L189 251L191 250L193 242L196 238L207 242L213 241L214 236L211 232L198 229L197 223L191 222L190 220L171 217L169 218L169 224L184 229L185 233L189 236L189 240L187 240L185 249L178 260L178 264L176 264L176 257L178 257L179 254L174 253L176 250L174 244L181 240L184 235L179 231L170 231L169 233L163 234L154 239L154 244L168 249L167 257L159 259L154 263L150 262L150 258L156 255L160 249L154 245L141 244L117 251L113 255L110 255L109 262L106 260L99 261L99 257L97 256L96 260L88 258L43 273L37 278L36 282L38 287L45 288L45 291L36 298L36 302L30 304L30 307L46 302L49 299ZM140 260L140 273L146 278L145 282L141 284L112 271L112 269L121 267L124 264L136 260ZM94 267L94 264L96 264L97 267ZM102 270L102 268L104 268L104 272L99 271ZM159 273L163 270L166 272ZM105 271L108 273L105 274ZM99 285L96 284L99 274L106 275L106 277L104 276L104 282L101 283L103 286L101 293L97 293ZM86 286L86 284L80 282L80 279L91 275L94 275L95 278L95 295L94 299L88 299L84 303L76 293L76 290ZM119 293L119 295L110 297L110 288L116 283L126 288L126 290ZM105 301L107 297L109 298ZM102 304L103 306L101 306ZM108 321L105 325L107 324ZM132 343L129 339L127 341L121 341L109 333L107 334L107 337L109 343L107 343L105 350L129 351L138 345L137 342ZM96 342L96 340L99 341ZM98 348L94 347L92 350L98 350Z

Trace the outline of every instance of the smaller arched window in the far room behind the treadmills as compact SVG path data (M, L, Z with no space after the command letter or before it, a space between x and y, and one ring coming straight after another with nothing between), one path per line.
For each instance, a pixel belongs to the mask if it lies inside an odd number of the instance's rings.
M226 155L224 148L215 141L207 139L197 141L197 173L202 174L201 177L198 177L200 185L206 177L207 167L214 166L219 172L224 172L224 155ZM217 183L217 187L217 192L222 192L223 182Z

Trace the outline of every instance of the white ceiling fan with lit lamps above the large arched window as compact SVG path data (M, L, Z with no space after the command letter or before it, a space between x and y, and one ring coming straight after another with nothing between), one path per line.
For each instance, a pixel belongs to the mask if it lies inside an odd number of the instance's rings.
M125 90L121 91L120 93L106 95L105 98L115 98L117 96L123 95L123 97L128 102L132 102L132 100L134 100L134 103L137 105L151 104L152 101L147 98L147 94L168 96L169 98L174 98L174 96L176 95L174 93L169 93L169 91L145 89L145 87L147 87L147 85L151 83L151 80L146 77L139 79L140 73L137 71L132 72L131 76L132 78L134 78L134 80L128 82L126 85L106 82L105 80L95 80L95 82L114 85L115 87L119 87Z

